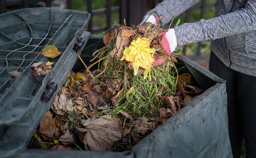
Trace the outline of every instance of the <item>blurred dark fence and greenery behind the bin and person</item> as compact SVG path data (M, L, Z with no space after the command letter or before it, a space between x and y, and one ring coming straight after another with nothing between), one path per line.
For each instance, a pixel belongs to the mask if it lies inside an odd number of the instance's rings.
M91 13L91 20L87 27L94 35L104 35L106 30L115 24L138 25L143 16L162 0L0 0L0 13L22 8L54 7L74 9ZM188 11L177 16L171 28L180 19L180 24L210 19L215 15L218 0L202 0ZM170 23L165 25L168 28ZM208 69L210 58L210 40L188 44L183 48L183 54Z

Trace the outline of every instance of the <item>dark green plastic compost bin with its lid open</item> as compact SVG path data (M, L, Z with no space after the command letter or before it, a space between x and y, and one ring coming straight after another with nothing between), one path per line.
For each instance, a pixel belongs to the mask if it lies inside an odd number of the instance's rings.
M81 50L85 48L81 57L89 64L91 54L103 46L103 36L83 31L89 18L86 12L52 8L22 9L0 15L0 157L233 157L228 135L225 80L185 56L177 58L179 72L192 74L197 86L206 91L131 151L27 149L34 130L52 106ZM81 38L84 44L79 45ZM56 46L61 56L54 59L42 56L38 52L45 45ZM32 75L31 64L48 61L54 63L52 71L45 77ZM81 63L77 62L73 69L80 68ZM12 70L22 73L14 79L8 74ZM42 101L41 96L51 88L51 83L57 84L55 92L49 101Z

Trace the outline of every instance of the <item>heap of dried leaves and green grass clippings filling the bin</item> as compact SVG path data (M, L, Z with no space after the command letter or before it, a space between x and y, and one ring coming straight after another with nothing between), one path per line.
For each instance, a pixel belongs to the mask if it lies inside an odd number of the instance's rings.
M203 90L191 86L190 74L178 74L176 57L163 49L162 36L157 36L163 31L151 23L116 25L104 38L106 46L94 53L98 69L89 71L93 64L82 73L69 74L30 147L130 150L199 96ZM138 37L149 38L158 58L167 58L151 68L151 79L144 78L141 67L133 75L131 63L120 60L125 47Z

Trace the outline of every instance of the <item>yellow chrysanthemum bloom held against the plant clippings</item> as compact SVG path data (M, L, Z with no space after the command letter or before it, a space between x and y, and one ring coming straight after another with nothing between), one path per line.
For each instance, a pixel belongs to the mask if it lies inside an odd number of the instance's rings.
M147 78L148 74L151 80L150 69L155 62L154 54L155 48L150 48L150 39L139 37L137 40L133 40L129 47L124 49L121 60L125 59L132 62L134 75L137 75L139 67L144 68L144 79Z

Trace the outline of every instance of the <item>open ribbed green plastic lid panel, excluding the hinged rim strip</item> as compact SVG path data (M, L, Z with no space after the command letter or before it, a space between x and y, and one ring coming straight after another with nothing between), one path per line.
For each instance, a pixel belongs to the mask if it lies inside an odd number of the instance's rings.
M89 19L87 12L57 8L26 8L0 15L0 125L20 122L42 101L47 82L56 72L74 65L61 67ZM41 51L48 45L57 47L61 55L43 56ZM48 61L53 63L52 71L44 77L32 75L33 63ZM18 78L8 73L14 70L21 72Z

